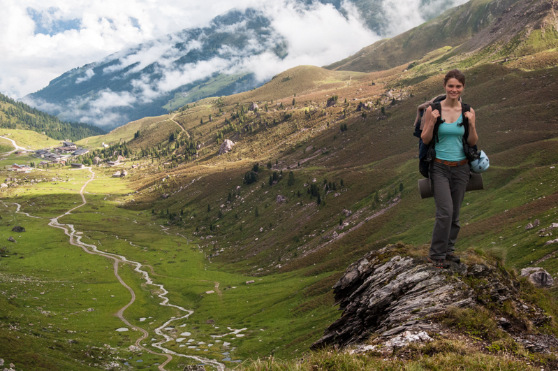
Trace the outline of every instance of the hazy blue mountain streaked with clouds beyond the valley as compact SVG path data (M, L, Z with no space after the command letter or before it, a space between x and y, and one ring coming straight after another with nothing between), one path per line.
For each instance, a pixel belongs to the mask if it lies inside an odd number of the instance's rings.
M456 1L420 0L419 16L429 19ZM316 6L310 0L300 3L308 11ZM331 4L351 18L341 0L321 3ZM349 4L376 34L386 36L394 30L392 17L387 16L395 11L393 4L386 0L352 0ZM253 89L284 69L271 71L273 67L267 66L270 59L279 65L277 61L289 53L288 40L266 14L253 8L230 10L207 27L184 29L68 71L23 101L61 119L112 129L207 96ZM255 67L269 71L256 76Z

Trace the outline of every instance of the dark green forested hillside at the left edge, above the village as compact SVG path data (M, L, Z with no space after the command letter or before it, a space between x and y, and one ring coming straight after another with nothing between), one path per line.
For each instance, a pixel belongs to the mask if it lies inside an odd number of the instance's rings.
M0 94L0 128L32 130L45 133L52 139L80 140L105 133L94 125L61 121L36 108Z

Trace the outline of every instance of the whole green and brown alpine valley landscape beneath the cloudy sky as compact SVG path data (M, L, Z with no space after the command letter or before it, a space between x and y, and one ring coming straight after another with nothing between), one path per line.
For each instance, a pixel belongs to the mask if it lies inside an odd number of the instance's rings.
M1 100L0 370L557 370L557 11L471 0L256 89L181 85L109 133ZM212 27L31 98L133 99L171 48L181 68L252 31L284 53L256 10ZM436 270L412 124L452 68L490 168L464 198L462 263Z

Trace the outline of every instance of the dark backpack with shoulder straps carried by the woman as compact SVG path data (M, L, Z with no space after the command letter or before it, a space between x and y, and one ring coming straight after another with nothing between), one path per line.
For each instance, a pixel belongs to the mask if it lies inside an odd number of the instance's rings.
M432 101L423 103L418 107L417 110L417 119L415 120L415 131L413 136L418 138L418 170L423 177L429 177L430 167L434 163L434 158L436 158L436 150L434 149L435 145L438 140L438 128L442 123L441 115L438 117L438 121L434 124L434 130L432 131L432 140L430 143L425 145L423 143L423 139L420 138L420 135L423 133L423 130L420 129L421 124L424 122L424 112L426 112L429 106L432 106L432 110L439 110L442 112L441 109L441 101L446 99L445 95L436 96L436 98L432 99ZM463 150L465 152L465 156L469 161L472 161L478 152L476 145L473 147L469 147L467 143L467 137L469 137L469 119L465 117L464 113L469 112L471 110L471 106L466 103L461 104L462 108L462 115L463 115L463 126L465 127L465 133L463 134L462 142L463 142Z

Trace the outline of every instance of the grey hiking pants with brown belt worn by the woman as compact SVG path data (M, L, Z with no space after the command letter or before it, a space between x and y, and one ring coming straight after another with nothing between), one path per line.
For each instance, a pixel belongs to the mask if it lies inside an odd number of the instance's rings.
M455 241L460 231L460 209L469 184L469 164L448 166L434 162L430 174L434 185L436 221L432 231L431 259L446 259L455 252Z

